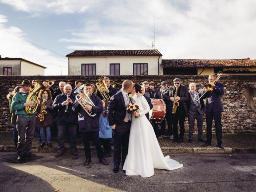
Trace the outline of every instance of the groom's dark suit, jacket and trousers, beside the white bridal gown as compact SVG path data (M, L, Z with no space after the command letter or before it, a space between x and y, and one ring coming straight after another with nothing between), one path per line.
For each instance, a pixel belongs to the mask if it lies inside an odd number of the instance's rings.
M126 104L121 90L110 98L107 114L109 125L116 125L114 129L114 166L119 167L120 165L121 150L122 166L124 166L124 161L128 154L131 121L128 120L128 122L124 122L126 117Z

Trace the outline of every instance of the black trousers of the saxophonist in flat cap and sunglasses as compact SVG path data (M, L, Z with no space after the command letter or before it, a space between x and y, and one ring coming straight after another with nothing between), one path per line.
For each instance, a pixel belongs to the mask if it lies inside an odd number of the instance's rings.
M178 123L180 125L180 134L178 136ZM185 114L173 114L172 115L172 126L173 126L173 135L174 140L184 139L185 134Z

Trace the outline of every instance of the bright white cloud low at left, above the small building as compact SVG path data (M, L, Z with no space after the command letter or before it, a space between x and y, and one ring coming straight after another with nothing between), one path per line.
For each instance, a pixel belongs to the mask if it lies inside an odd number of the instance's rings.
M7 21L6 16L0 15L0 27L2 29L21 38L28 38L20 28L14 26L7 27ZM56 57L51 52L42 50L4 30L0 30L0 53L2 57L24 58L45 66L47 67L45 70L46 75L60 75L61 70L59 66L66 66L66 68L63 68L63 74L68 74L68 60L66 58Z

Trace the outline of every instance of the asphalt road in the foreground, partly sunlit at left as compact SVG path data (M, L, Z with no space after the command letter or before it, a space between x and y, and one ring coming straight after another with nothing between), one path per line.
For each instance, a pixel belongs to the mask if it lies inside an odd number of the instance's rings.
M36 153L37 157L19 164L16 154L0 152L0 192L255 192L256 154L175 154L184 164L174 171L155 170L154 176L126 176L112 172L93 154L83 166L84 156Z

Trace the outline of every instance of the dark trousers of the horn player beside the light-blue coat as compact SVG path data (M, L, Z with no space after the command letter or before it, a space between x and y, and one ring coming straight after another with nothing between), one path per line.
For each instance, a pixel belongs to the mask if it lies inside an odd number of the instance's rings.
M90 148L90 141L92 141L94 142L94 145L97 150L97 157L99 158L99 160L101 160L104 157L104 154L100 144L99 132L88 131L88 132L81 132L81 134L84 142L85 157L88 159L92 158L91 148Z

